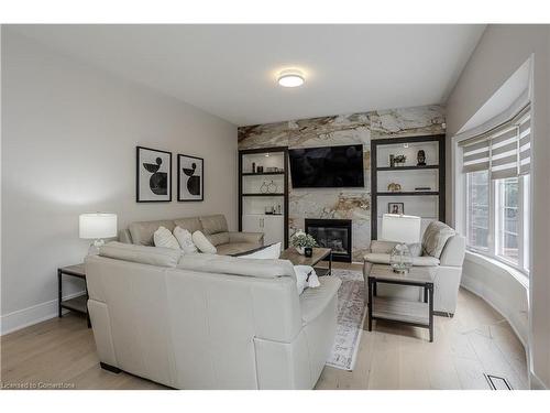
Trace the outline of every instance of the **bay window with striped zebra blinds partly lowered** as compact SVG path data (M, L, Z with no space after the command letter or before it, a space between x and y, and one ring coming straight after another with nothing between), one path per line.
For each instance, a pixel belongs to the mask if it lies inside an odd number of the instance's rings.
M468 248L528 273L529 108L461 146Z

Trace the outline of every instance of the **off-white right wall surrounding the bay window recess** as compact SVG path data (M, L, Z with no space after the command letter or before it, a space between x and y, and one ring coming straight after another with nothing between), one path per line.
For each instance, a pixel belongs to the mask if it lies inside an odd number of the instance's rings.
M447 104L448 156L450 138L483 106L529 56L534 57L531 143L532 242L529 289L530 369L535 382L550 387L550 143L548 132L550 85L550 29L548 25L490 25L466 64ZM452 174L448 160L448 180ZM453 199L448 182L448 208Z

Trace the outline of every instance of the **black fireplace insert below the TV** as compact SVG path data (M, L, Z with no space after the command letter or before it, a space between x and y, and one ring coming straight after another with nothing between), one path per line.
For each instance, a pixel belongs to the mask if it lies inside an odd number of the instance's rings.
M351 262L351 219L306 218L306 233L319 247L330 248L334 261Z

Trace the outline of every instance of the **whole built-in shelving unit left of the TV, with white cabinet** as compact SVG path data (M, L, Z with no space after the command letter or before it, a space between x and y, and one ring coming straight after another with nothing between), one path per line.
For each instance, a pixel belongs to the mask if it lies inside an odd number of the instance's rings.
M288 148L239 151L239 230L288 247Z

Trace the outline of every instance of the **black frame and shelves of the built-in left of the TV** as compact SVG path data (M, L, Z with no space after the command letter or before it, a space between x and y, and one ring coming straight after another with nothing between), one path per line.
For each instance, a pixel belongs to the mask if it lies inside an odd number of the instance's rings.
M278 172L261 172L251 173L243 172L243 156L258 153L283 153L283 165L284 171ZM272 146L272 148L258 148L258 149L244 149L239 151L239 230L242 231L242 213L243 213L243 198L248 196L260 196L260 197L277 197L283 196L283 225L284 225L284 246L285 249L288 248L288 146ZM275 194L243 194L243 176L264 176L264 175L283 175L284 176L284 188L283 193ZM279 214L275 214L279 216ZM270 216L270 214L267 214Z

